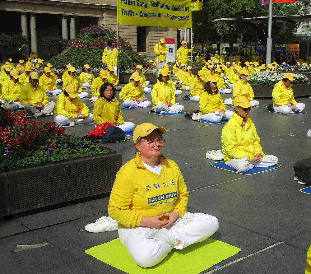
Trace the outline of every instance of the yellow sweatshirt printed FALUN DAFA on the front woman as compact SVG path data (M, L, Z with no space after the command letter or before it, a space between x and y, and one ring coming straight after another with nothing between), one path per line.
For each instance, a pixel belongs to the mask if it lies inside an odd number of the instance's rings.
M136 154L118 171L108 214L118 221L119 228L139 226L142 216L177 212L181 217L186 213L189 193L179 167L172 160L167 167L162 157L160 162L162 169L158 175L147 170Z

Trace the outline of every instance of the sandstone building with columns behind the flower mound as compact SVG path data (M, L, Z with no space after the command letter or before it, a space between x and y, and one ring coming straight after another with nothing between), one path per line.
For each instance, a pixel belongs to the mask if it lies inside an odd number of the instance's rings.
M59 54L57 47L47 49L42 45L42 38L49 35L70 40L90 24L117 30L116 9L116 0L1 0L0 33L22 34L27 37L28 44L23 48L24 55L18 47L0 48L0 63L9 57L18 62L20 58L28 58L33 50L45 60L49 59L49 52L51 55ZM154 56L154 45L158 42L157 27L119 25L119 35L128 40L134 51L151 58ZM160 27L159 37L176 41L177 30Z

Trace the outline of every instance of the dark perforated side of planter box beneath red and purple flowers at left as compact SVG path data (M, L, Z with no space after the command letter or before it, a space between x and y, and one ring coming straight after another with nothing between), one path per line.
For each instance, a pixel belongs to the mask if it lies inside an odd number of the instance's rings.
M9 214L109 193L120 168L121 154L112 151L7 171Z

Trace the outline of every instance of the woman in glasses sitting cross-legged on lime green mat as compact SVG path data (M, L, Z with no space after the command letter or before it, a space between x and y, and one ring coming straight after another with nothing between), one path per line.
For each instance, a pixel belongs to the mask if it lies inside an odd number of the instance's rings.
M133 132L136 156L118 171L109 216L134 262L152 267L173 249L201 242L218 230L216 217L187 212L189 193L179 167L162 154L165 128L151 123Z

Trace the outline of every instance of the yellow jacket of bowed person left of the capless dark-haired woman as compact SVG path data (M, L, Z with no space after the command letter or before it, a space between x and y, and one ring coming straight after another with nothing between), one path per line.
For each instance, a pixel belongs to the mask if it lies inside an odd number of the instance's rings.
M57 115L63 115L69 119L76 119L77 113L79 112L84 114L85 118L89 116L89 108L79 97L70 100L70 98L65 96L63 92L57 96L54 109L54 118Z

